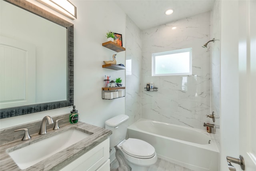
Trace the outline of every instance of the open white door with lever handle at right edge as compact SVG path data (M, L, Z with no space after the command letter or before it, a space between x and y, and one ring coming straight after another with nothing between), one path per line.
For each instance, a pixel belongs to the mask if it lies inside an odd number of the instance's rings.
M239 7L244 13L239 20L239 152L245 170L256 171L256 1L241 1Z

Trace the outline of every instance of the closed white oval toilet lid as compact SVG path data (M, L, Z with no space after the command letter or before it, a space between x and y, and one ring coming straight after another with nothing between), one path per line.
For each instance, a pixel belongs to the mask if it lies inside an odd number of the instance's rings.
M141 159L148 159L155 155L155 149L146 141L129 138L122 144L123 151L132 156Z

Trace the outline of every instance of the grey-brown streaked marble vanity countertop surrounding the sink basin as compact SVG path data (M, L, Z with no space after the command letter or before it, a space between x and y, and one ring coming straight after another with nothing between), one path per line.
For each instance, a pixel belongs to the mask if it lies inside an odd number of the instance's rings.
M40 127L40 125L38 127ZM48 157L47 159L44 159L43 161L40 161L35 165L24 170L26 171L32 171L32 170L46 171L47 170L48 171L48 170L61 169L62 167L68 165L68 163L82 156L84 153L86 153L96 145L100 144L102 141L107 139L112 134L112 131L108 129L104 129L104 128L83 123L80 121L76 124L64 123L63 125L60 126L59 130L47 129L46 135L38 135L38 133L34 133L33 135L30 135L31 139L28 141L21 141L21 139L17 139L17 140L10 141L8 143L4 143L0 145L0 163L1 163L0 170L1 171L10 171L10 170L20 171L21 170L6 151L9 151L9 152L14 151L15 149L25 147L27 145L40 141L44 138L53 136L60 131L65 131L70 128L78 129L80 131L84 131L85 133L89 133L92 135L90 135L89 137L86 137L82 141L79 141L75 145L67 147L66 149L58 153L55 153L51 157Z

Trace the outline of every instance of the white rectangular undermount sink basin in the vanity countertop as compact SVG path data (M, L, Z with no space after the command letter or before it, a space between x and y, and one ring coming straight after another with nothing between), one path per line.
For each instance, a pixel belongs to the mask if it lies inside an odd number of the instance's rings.
M88 133L76 129L68 129L8 154L20 169L26 169L88 136L90 136Z

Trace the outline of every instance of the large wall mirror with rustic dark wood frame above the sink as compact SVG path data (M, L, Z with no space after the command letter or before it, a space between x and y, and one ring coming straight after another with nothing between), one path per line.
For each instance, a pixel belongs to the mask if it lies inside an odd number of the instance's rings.
M0 3L0 118L73 105L73 24L25 0Z

